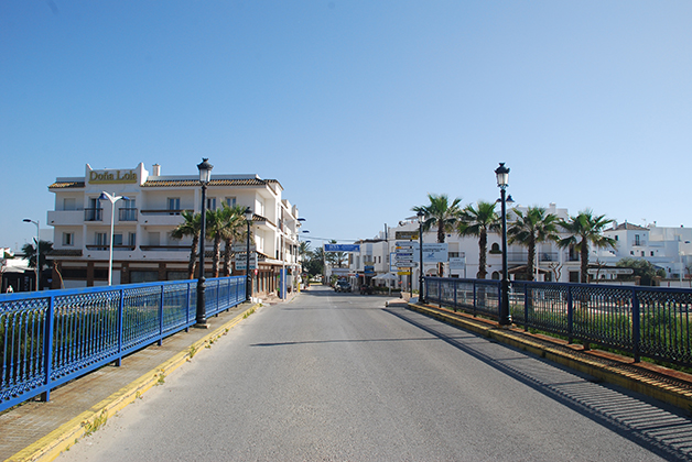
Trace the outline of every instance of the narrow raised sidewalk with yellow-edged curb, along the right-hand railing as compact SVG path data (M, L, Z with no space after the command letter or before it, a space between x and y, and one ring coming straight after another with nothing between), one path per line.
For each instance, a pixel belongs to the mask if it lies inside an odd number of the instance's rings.
M549 361L588 374L614 385L650 396L692 413L692 375L648 362L598 350L584 350L583 345L548 336L532 334L523 329L502 329L497 322L474 318L432 305L408 304L409 309L434 319L469 330L497 342L528 351Z

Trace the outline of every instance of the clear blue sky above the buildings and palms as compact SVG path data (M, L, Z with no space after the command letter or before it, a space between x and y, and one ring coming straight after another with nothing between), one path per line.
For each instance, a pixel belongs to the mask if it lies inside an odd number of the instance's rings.
M426 194L692 226L692 1L0 0L0 246L58 176L275 178L312 234Z

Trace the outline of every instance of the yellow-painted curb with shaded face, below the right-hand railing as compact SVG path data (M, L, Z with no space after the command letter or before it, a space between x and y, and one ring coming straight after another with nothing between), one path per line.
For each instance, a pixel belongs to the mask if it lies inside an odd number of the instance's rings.
M412 310L433 319L478 333L500 343L528 351L537 356L541 356L572 370L592 375L604 382L621 386L632 392L641 393L642 395L650 396L663 403L671 404L685 411L692 411L692 393L681 389L674 385L664 384L636 373L620 371L617 367L602 364L598 361L590 361L586 358L581 358L581 355L570 355L556 348L553 349L545 346L542 343L534 342L531 338L522 336L521 332L508 332L505 329L476 322L472 319L452 317L436 309L421 305L408 304L408 306Z

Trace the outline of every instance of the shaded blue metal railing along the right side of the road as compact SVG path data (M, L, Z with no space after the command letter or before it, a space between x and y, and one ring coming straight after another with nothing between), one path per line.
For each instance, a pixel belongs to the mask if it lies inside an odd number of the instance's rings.
M499 280L425 277L428 302L499 318ZM692 366L692 289L511 282L512 321L641 356Z

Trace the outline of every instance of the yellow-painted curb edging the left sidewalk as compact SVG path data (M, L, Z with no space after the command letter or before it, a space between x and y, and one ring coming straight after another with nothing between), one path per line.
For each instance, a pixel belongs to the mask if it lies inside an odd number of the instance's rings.
M141 397L148 389L155 385L163 384L163 380L166 375L185 364L187 361L201 352L206 345L213 344L219 338L228 333L228 331L242 319L255 312L260 304L255 304L247 310L242 311L230 321L220 326L212 333L203 337L196 342L192 343L187 349L175 354L170 360L160 364L158 367L152 369L147 374L142 375L138 380L123 386L118 392L110 395L108 398L101 400L97 405L93 406L89 410L86 410L62 425L60 428L53 430L45 437L39 439L34 443L28 446L23 450L14 453L12 457L6 460L6 462L14 461L52 461L57 458L63 451L69 449L84 436L88 436L100 427L105 426L107 420L115 416L116 413L123 409L137 398Z

